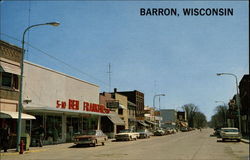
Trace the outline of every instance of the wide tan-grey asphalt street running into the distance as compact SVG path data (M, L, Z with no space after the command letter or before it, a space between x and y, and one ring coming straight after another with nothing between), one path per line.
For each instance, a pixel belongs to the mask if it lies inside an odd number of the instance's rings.
M221 142L210 137L212 129L178 132L173 135L113 142L105 146L75 147L72 143L32 148L23 155L2 155L1 160L249 160L249 145Z

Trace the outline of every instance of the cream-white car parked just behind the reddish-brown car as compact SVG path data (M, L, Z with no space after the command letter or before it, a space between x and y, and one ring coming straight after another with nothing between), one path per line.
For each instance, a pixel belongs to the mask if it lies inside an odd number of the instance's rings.
M138 132L134 132L131 129L125 129L121 130L120 133L115 135L116 141L132 141L132 140L137 140L139 138L140 134Z

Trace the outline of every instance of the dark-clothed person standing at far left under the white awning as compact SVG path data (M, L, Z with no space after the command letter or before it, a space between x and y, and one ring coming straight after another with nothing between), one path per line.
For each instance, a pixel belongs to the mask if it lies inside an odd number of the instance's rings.
M8 151L9 138L10 138L10 128L6 123L4 123L3 128L1 128L1 146L3 147L4 152Z

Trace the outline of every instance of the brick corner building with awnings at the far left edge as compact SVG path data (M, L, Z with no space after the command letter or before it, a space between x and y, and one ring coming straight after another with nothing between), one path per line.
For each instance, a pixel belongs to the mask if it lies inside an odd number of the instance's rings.
M18 99L20 95L21 48L0 40L0 128L10 128L8 148L16 147ZM22 123L35 119L22 113Z

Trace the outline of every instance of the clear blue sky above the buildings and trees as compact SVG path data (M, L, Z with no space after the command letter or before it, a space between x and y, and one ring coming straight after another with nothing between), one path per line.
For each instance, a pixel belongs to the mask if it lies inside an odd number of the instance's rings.
M0 38L25 59L97 84L100 92L138 90L161 109L193 103L207 119L236 93L232 76L249 73L248 1L10 1L0 2ZM177 8L180 16L141 16L140 8ZM233 16L184 16L183 8L233 8ZM47 55L46 55L47 54ZM50 56L48 56L50 55ZM53 56L53 58L51 57ZM63 63L62 63L63 61ZM112 89L113 90L113 89ZM159 107L156 99L156 107Z

